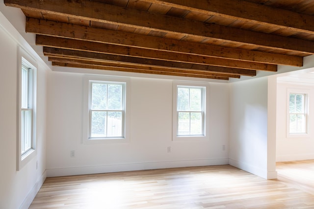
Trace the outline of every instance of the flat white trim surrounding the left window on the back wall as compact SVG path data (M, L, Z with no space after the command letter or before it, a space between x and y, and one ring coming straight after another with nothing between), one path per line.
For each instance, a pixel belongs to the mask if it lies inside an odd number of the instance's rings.
M125 102L125 118L124 118L124 138L112 138L112 139L89 139L89 96L90 96L90 82L91 81L105 81L105 82L118 82L125 83L124 102ZM131 82L126 77L116 76L83 76L83 122L82 122L82 139L83 144L103 144L103 143L126 143L130 142L130 124L131 124Z

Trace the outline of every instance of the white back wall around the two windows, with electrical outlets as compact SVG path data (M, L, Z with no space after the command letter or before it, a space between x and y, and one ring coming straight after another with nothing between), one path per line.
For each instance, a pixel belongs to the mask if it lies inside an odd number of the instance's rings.
M83 74L50 72L48 176L228 163L228 84L209 84L209 140L172 141L172 80L130 79L130 143L82 144Z

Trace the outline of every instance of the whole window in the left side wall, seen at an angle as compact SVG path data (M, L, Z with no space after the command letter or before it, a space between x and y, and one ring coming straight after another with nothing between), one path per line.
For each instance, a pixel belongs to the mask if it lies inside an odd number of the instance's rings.
M36 68L24 57L19 68L18 170L34 154L36 144ZM29 157L29 158L28 158ZM28 158L28 159L27 159Z

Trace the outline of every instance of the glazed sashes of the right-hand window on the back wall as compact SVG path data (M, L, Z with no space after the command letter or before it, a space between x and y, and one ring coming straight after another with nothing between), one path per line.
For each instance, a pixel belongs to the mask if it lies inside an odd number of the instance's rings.
M204 136L205 90L177 86L177 137Z

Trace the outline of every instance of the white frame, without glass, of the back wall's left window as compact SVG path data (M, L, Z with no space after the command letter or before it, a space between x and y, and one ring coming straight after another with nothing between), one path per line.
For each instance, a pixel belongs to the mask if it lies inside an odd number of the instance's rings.
M122 124L122 137L103 137L103 138L91 138L91 84L95 83L112 83L124 85L124 98L123 98L123 124ZM130 141L130 92L131 85L130 80L124 77L108 77L108 76L91 76L84 75L83 77L83 144L103 144L103 143L121 143Z

